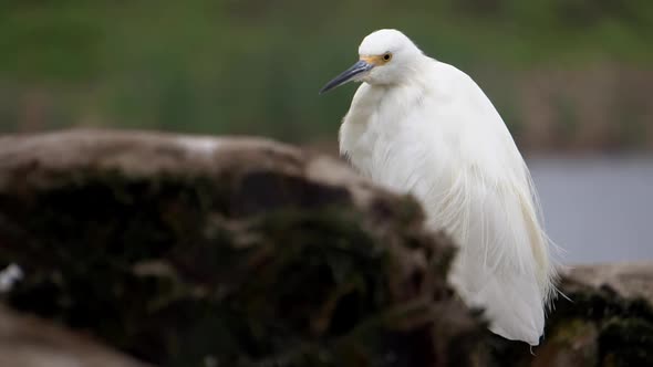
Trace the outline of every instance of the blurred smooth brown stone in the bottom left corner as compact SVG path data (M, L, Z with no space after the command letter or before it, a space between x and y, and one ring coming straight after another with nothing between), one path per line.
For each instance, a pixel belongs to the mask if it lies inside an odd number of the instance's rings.
M89 337L0 307L0 366L146 367Z

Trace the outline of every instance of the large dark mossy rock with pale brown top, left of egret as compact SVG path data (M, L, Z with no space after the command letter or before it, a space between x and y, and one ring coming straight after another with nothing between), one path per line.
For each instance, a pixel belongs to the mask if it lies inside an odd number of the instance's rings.
M486 332L408 197L277 143L0 139L17 310L176 366L474 365Z

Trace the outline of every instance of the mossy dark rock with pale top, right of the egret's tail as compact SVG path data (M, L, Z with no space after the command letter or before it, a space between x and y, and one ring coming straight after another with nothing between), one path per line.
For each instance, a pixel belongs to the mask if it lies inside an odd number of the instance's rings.
M585 366L653 366L653 262L578 266L561 287L572 302L558 302L551 318L559 355L589 356Z

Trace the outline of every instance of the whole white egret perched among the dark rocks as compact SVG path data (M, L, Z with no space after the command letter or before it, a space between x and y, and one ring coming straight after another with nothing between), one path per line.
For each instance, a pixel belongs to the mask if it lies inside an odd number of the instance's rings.
M411 192L427 224L459 251L449 283L494 333L538 345L556 266L530 174L480 87L402 32L380 30L360 61L320 93L363 82L340 128L340 153L373 181Z

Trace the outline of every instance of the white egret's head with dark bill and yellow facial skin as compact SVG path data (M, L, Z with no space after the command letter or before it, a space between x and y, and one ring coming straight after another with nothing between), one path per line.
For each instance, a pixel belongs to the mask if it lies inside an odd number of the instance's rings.
M320 93L348 82L398 84L418 60L422 51L397 30L379 30L363 39L359 46L359 62L326 83Z

